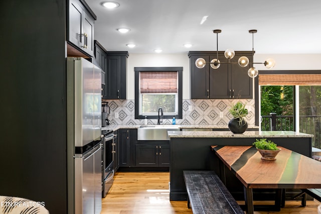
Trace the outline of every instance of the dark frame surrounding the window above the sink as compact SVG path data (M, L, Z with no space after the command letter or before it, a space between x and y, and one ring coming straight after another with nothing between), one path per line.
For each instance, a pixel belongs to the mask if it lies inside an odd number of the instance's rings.
M135 119L144 119L147 116L148 119L157 119L157 115L141 115L139 114L139 103L140 100L140 93L139 93L139 72L178 72L178 114L173 115L164 115L164 119L172 119L175 117L176 119L183 118L183 67L134 67L135 72Z

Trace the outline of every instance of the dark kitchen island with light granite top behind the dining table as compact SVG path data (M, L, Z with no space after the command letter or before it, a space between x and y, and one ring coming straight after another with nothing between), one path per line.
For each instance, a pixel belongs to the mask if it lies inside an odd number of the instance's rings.
M218 158L211 145L252 145L256 138L267 138L289 150L311 157L312 135L292 131L247 131L233 134L230 131L169 131L171 147L170 200L187 200L183 170L214 170L237 200L244 200L243 186L232 173L223 175ZM227 171L228 172L228 171ZM253 197L267 200L273 194L253 191Z

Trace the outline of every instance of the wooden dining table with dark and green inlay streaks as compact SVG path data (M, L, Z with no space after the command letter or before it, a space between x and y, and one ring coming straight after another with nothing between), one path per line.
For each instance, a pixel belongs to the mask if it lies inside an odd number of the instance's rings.
M244 185L247 213L254 212L253 188L276 190L274 207L280 210L286 188L321 188L321 162L281 148L276 160L262 160L254 146L211 146L212 150ZM225 167L224 167L225 168Z

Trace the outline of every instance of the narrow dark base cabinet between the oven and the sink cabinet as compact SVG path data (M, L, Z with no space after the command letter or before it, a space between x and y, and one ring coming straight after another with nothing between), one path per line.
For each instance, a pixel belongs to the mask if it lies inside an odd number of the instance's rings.
M137 140L136 129L119 129L119 167L135 166L135 144Z

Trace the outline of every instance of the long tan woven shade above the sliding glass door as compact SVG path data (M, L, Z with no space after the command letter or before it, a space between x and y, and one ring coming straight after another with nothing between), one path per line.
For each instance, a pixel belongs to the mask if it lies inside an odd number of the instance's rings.
M260 85L321 85L321 74L259 74Z

